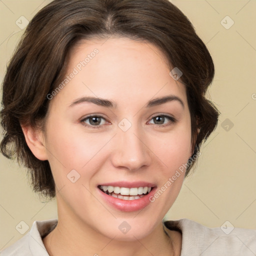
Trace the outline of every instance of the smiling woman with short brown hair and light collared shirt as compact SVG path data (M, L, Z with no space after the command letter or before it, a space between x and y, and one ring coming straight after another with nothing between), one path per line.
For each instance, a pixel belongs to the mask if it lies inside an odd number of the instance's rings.
M35 221L2 255L255 252L254 230L162 221L217 125L204 97L213 75L206 46L167 0L40 10L4 77L1 151L31 170L34 191L56 196L58 220Z

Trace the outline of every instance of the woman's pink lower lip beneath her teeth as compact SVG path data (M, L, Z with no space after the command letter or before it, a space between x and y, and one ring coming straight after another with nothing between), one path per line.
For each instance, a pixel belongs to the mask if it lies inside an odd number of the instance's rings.
M147 206L150 203L149 197L154 194L154 191L156 190L156 186L153 187L148 194L144 195L139 199L134 199L134 200L119 199L102 192L99 188L98 190L100 195L103 197L103 199L114 208L121 211L136 211L136 210L143 209L145 206Z

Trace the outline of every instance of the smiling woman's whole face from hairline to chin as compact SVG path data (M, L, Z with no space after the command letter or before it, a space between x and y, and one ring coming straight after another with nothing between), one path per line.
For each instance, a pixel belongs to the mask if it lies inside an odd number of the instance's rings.
M127 240L159 225L192 153L185 87L169 72L150 43L109 38L72 50L68 77L50 100L44 140L59 221ZM166 96L172 100L156 100ZM152 188L141 197L149 189L138 187ZM116 198L118 192L133 197Z

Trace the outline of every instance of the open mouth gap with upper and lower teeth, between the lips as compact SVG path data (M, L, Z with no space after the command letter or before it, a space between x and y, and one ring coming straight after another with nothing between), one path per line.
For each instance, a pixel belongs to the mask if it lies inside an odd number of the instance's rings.
M123 200L136 200L148 194L152 187L140 186L140 187L119 187L119 186L103 186L98 185L98 188L115 198L123 199Z

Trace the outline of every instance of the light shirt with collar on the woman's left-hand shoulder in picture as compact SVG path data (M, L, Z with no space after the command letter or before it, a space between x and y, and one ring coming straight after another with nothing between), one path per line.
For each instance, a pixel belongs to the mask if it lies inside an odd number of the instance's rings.
M1 256L48 256L42 237L57 224L56 219L34 221L31 229L22 238L0 252Z

